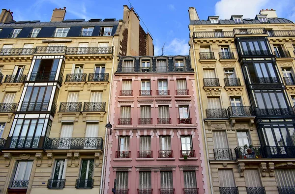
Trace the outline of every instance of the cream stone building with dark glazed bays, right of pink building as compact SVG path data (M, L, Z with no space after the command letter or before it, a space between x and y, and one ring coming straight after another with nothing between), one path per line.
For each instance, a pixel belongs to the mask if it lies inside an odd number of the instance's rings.
M272 9L189 18L211 193L294 193L295 24Z

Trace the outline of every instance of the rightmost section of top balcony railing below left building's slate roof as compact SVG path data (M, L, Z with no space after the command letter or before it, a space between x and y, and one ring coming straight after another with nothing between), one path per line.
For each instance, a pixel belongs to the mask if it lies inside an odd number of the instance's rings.
M113 47L68 47L66 55L112 54Z

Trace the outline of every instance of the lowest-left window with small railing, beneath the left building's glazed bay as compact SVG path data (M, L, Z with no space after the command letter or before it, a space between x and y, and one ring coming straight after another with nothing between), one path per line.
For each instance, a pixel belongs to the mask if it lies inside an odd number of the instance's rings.
M33 161L17 161L11 187L27 188Z

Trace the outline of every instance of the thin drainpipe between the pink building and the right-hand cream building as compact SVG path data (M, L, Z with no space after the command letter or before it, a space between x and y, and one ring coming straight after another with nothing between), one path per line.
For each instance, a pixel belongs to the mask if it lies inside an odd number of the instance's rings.
M205 137L205 149L206 149L206 158L207 158L207 165L208 165L208 172L209 172L209 183L210 183L210 190L211 194L213 194L213 185L212 185L212 177L211 177L211 168L210 168L210 163L209 163L209 153L207 149L207 136L206 136L206 130L205 130L205 122L204 122L204 113L203 113L203 104L201 100L201 90L200 90L200 83L199 83L199 75L198 75L198 68L197 68L197 61L196 61L196 55L195 55L195 46L192 41L193 45L193 54L194 54L194 62L195 62L195 69L196 69L196 76L197 76L197 84L198 84L198 95L199 95L199 102L200 102L200 108L201 108L201 116L202 116L202 124L203 124L203 133Z

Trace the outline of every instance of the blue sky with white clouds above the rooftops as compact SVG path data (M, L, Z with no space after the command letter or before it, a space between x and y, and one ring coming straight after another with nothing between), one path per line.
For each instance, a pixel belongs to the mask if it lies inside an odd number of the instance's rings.
M65 19L122 19L128 0L1 0L14 20L50 21L55 8L66 7ZM295 0L129 0L140 16L141 25L153 37L155 55L188 55L188 7L195 7L200 20L208 16L230 19L231 15L255 18L261 9L275 9L279 18L295 22Z

